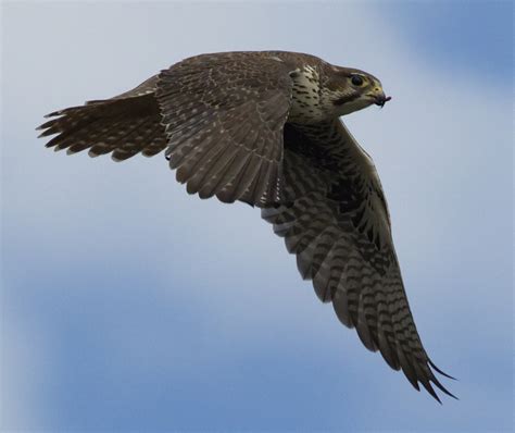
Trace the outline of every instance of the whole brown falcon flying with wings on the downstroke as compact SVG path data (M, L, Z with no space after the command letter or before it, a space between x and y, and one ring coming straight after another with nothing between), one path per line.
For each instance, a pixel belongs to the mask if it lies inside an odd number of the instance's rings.
M410 383L454 397L413 320L390 215L370 157L340 116L385 106L381 83L314 55L285 51L201 54L114 98L48 114L55 150L123 161L164 150L189 194L243 201L297 255L303 279ZM452 378L451 378L452 379Z

